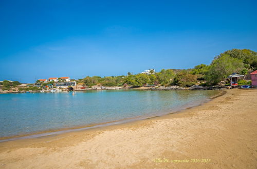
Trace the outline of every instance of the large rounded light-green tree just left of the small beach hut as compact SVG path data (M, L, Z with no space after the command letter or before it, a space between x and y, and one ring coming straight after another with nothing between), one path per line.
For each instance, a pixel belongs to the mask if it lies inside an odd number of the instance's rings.
M216 85L233 72L240 73L243 69L244 63L242 60L230 57L228 54L223 54L221 57L216 57L212 61L206 75L207 83Z

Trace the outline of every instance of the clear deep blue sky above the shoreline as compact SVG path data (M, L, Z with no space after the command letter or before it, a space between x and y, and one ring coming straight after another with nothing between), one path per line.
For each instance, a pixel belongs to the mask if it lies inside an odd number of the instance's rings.
M0 80L210 64L257 51L257 1L0 1Z

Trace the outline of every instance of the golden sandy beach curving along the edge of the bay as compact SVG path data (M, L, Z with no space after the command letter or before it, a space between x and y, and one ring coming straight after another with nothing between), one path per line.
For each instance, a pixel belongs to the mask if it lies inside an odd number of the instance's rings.
M257 168L256 140L257 90L235 89L178 114L0 143L0 168Z

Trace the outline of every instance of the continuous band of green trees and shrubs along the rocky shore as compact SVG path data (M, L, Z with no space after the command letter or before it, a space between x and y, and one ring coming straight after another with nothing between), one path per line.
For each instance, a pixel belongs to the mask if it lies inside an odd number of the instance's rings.
M200 64L193 69L172 70L162 69L158 73L136 74L130 72L126 76L111 77L85 77L77 82L86 86L142 86L142 85L161 85L161 86L180 86L190 87L196 83L200 85L217 85L232 73L246 75L249 71L257 69L257 53L249 49L232 49L214 57L210 65Z

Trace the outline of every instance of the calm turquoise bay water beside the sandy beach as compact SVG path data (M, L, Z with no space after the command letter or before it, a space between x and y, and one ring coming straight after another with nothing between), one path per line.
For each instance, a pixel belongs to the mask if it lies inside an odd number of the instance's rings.
M152 117L191 107L215 94L139 90L0 94L0 137Z

